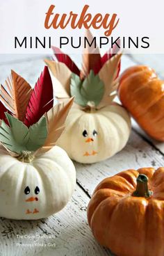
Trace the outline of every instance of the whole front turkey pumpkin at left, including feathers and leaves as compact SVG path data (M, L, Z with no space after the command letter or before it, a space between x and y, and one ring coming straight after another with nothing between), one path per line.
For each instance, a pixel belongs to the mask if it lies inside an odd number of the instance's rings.
M47 67L34 89L12 71L0 94L0 216L48 217L65 207L76 184L72 161L56 145L73 99L53 106Z

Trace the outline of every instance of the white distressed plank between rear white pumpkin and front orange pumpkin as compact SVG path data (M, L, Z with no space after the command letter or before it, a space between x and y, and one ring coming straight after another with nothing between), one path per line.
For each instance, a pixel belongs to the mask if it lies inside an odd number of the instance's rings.
M164 166L164 157L147 141L132 131L129 143L114 157L92 165L75 163L75 166L79 184L89 195L92 195L95 186L102 179L130 168Z

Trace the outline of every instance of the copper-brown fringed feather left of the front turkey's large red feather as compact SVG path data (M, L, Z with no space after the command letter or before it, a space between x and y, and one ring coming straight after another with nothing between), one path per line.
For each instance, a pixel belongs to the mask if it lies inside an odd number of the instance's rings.
M6 80L6 85L1 85L0 99L15 118L23 121L31 92L31 86L11 70L11 76Z

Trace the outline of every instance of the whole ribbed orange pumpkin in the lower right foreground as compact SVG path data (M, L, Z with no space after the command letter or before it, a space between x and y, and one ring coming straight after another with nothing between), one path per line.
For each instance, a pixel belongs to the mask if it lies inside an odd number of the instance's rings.
M126 170L104 179L88 205L99 243L117 256L164 255L164 168Z

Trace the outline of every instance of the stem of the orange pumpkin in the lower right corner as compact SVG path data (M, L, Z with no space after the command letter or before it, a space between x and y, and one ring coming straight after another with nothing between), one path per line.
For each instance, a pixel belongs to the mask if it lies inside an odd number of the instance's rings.
M153 194L153 192L149 191L147 183L148 183L148 177L146 175L144 174L138 175L137 187L136 187L136 191L134 191L133 193L133 196L149 198Z

